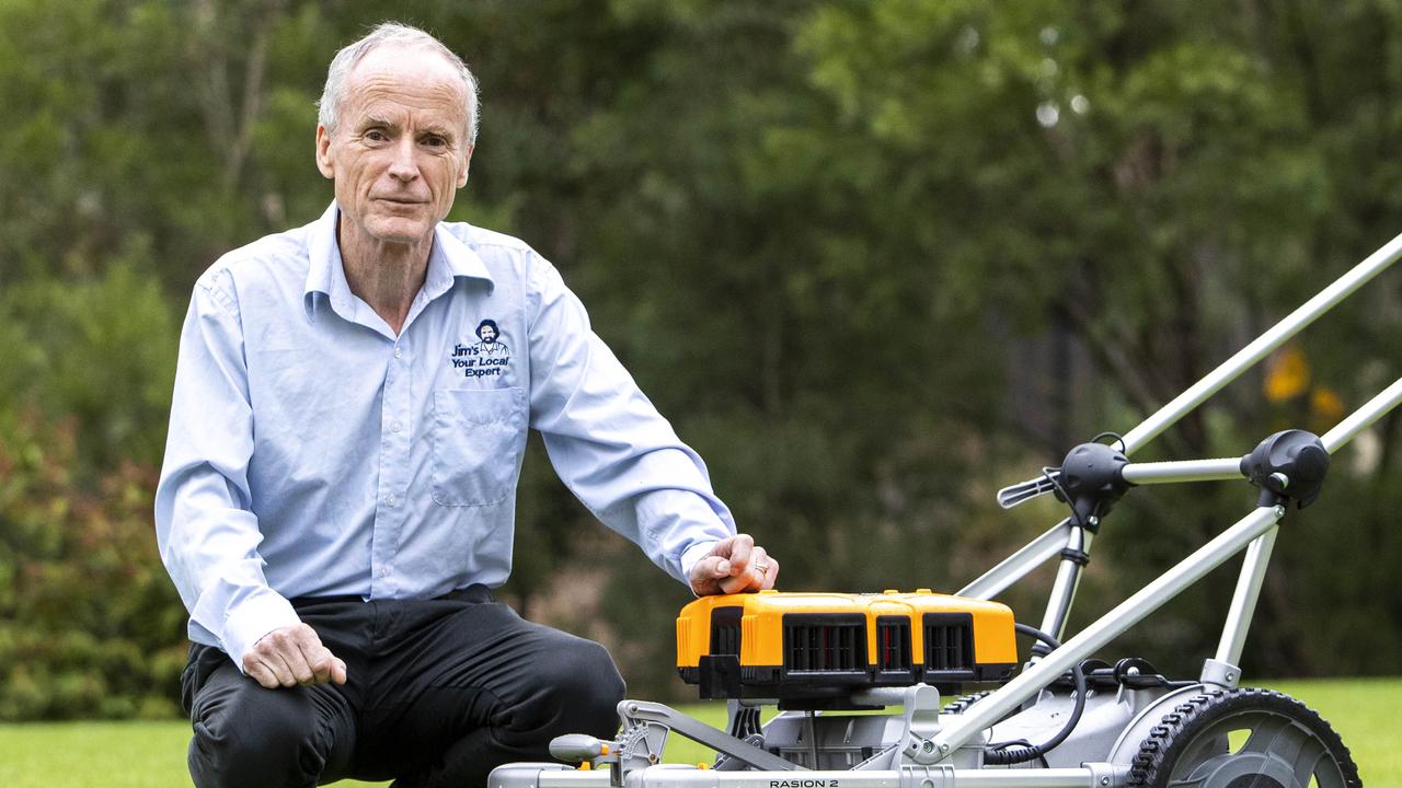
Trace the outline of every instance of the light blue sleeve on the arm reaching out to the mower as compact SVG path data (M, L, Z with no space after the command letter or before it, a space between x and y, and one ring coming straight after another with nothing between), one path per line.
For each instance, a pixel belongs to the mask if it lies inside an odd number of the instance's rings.
M531 255L531 426L555 473L604 524L673 578L735 534L705 463L589 327L559 272Z

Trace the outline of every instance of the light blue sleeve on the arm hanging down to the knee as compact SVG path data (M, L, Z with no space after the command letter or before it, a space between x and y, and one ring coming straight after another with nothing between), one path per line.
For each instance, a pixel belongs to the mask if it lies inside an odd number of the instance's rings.
M227 271L215 269L196 283L181 331L156 538L189 610L191 639L217 644L240 670L259 638L299 621L264 576L250 510L252 446L238 303Z

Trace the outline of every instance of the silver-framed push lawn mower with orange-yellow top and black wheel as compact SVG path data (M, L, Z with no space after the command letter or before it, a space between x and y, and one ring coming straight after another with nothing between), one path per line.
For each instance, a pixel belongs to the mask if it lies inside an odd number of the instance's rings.
M702 597L677 617L677 669L725 700L726 729L625 700L613 740L561 736L559 763L506 764L491 788L1349 788L1338 733L1284 694L1241 684L1241 655L1281 519L1309 505L1330 456L1402 401L1402 379L1322 436L1277 432L1239 457L1133 463L1129 456L1402 257L1402 236L1113 440L1004 488L1012 508L1052 494L1070 515L955 595L760 592ZM1130 488L1248 480L1237 523L1066 637L1091 544ZM1172 680L1143 659L1092 655L1187 586L1245 552L1217 652ZM1039 627L993 597L1059 559ZM1035 641L1018 658L1015 637ZM972 684L997 686L965 694ZM761 722L765 707L778 714ZM712 764L663 763L669 736Z

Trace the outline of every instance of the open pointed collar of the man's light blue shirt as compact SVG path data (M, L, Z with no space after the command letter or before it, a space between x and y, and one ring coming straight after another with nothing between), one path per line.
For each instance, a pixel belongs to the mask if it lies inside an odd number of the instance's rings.
M314 318L317 311L317 293L325 296L338 314L348 317L355 313L355 294L350 293L350 283L346 280L345 264L341 259L341 245L336 243L336 222L341 209L332 202L321 219L308 227L307 236L307 285L303 290L303 306L307 317ZM472 251L471 247L458 240L447 227L439 223L433 229L433 250L429 252L429 269L423 279L423 289L419 293L429 299L436 299L453 287L458 278L482 279L488 289L495 287L492 275L486 271L486 264ZM348 317L349 320L349 317Z

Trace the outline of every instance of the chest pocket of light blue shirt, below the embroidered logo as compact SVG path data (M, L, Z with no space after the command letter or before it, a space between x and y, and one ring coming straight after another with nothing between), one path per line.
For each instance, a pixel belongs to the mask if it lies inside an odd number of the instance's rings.
M516 485L526 449L526 390L433 393L433 501L491 506Z

